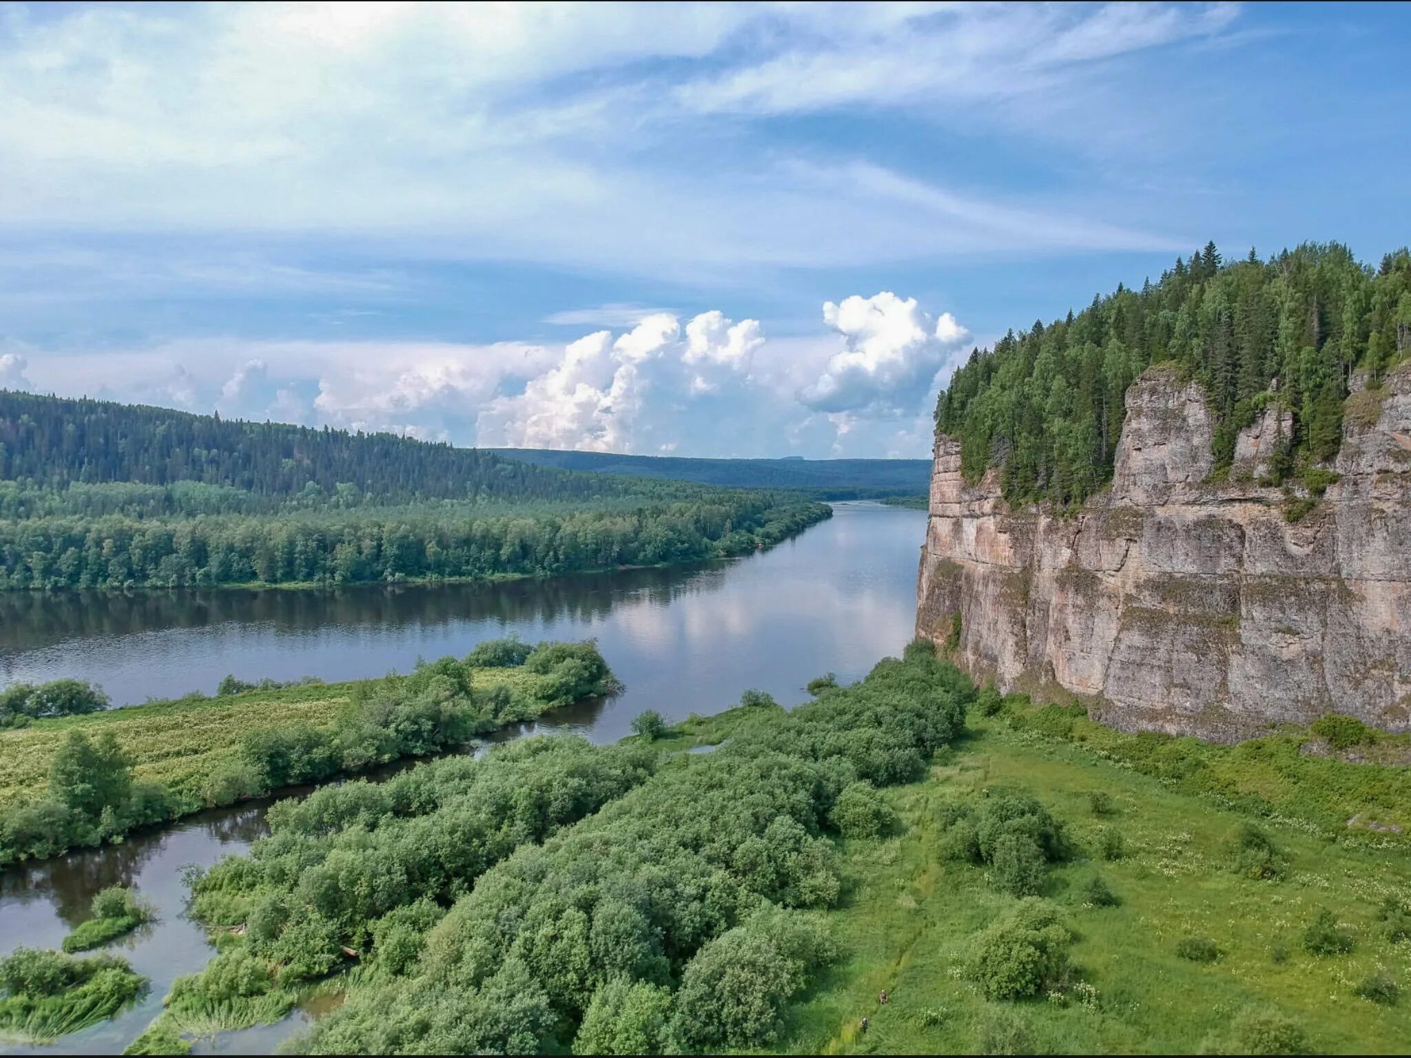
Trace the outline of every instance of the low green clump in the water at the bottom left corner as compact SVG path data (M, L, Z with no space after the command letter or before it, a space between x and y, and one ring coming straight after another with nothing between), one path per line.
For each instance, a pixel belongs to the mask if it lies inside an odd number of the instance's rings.
M0 1034L48 1042L111 1017L145 989L126 959L20 947L0 959Z

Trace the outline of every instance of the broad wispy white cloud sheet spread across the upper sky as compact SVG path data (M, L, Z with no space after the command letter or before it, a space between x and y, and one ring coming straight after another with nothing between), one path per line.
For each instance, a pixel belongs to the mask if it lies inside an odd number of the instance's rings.
M816 158L835 179L799 188L787 151L704 145L720 142L718 111L913 107L927 121L972 120L1232 17L1165 4L16 7L0 18L0 221L316 234L402 257L717 282L741 265L968 254L993 248L991 236L1167 248L1120 217L1037 199L958 224L878 195L847 158ZM322 284L234 257L183 279Z

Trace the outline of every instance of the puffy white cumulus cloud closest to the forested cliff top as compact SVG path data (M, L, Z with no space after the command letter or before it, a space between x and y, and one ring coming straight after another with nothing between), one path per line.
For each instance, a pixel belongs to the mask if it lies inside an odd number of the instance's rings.
M799 392L799 399L830 415L914 413L937 372L969 337L951 313L933 319L914 298L902 299L889 291L827 302L823 319L842 337L842 348L828 358L818 379Z

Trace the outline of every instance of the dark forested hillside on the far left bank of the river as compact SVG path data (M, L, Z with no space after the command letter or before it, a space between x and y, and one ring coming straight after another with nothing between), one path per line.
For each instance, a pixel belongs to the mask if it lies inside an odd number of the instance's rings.
M546 576L741 554L827 516L799 495L0 392L0 590Z

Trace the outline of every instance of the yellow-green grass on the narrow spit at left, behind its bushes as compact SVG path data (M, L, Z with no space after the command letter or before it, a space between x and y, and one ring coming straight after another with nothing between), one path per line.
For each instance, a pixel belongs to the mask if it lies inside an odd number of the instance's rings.
M519 669L480 669L474 686L508 686L532 694L539 677ZM200 798L205 780L230 760L250 731L293 724L322 725L353 697L361 681L257 690L214 698L178 698L85 717L41 719L27 728L0 731L0 813L42 793L49 763L62 736L78 729L89 736L110 731L133 760L137 780L162 782L178 794Z

